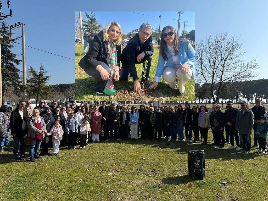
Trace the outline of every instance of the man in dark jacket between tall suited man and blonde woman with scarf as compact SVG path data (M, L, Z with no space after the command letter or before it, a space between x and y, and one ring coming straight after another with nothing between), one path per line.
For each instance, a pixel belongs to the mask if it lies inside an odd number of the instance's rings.
M114 130L114 139L117 140L118 137L118 120L119 112L116 110L116 104L114 103L113 108L108 113L108 120L110 125L110 139L113 141L113 130Z

